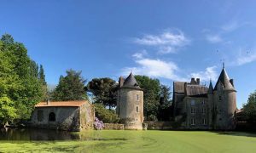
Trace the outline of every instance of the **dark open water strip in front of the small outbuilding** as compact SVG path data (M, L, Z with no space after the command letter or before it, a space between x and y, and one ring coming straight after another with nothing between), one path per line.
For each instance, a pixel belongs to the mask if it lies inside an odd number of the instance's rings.
M0 140L68 140L80 139L79 134L47 129L0 128Z

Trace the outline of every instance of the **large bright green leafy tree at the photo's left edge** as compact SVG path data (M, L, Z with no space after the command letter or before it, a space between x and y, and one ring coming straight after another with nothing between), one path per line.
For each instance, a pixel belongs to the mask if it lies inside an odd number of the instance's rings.
M9 34L0 40L0 124L30 117L42 99L37 64L23 43Z

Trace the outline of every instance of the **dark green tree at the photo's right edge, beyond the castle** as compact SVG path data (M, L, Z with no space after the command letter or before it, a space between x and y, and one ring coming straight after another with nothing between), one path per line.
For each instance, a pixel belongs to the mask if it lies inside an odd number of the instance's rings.
M256 122L256 91L249 95L247 104L243 105L242 113L247 122Z

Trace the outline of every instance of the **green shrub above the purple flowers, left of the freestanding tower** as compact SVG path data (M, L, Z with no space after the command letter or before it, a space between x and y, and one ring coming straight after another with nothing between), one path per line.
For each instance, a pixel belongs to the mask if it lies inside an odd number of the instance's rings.
M108 110L102 104L94 104L96 110L96 117L99 120L106 123L117 123L119 122L119 116L113 111Z

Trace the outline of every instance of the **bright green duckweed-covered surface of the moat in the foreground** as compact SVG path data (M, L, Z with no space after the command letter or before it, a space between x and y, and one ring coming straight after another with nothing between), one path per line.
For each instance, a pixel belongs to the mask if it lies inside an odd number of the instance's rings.
M252 133L84 131L80 140L0 141L0 152L255 152Z

